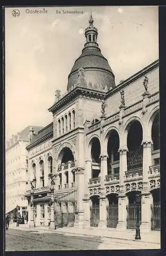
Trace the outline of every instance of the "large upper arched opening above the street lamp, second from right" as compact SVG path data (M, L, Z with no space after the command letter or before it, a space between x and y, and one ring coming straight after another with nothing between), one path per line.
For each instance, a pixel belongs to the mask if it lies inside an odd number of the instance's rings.
M127 176L138 172L142 175L143 169L143 129L139 121L130 123L127 136Z

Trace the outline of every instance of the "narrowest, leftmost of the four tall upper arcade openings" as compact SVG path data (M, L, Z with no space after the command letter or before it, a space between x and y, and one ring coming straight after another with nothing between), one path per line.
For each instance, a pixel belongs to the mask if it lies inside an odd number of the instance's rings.
M98 138L91 140L91 161L92 161L92 179L100 177L101 169L101 146Z

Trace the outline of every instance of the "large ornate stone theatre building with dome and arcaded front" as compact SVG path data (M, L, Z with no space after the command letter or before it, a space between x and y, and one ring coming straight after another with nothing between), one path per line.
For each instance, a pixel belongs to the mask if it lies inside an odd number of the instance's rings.
M134 229L139 208L141 231L159 230L159 62L115 86L97 36L90 16L53 122L30 132L29 225Z

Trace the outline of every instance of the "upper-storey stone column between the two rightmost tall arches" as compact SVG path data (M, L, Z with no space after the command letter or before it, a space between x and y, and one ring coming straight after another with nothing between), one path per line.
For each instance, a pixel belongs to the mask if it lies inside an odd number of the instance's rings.
M143 190L148 189L148 171L149 166L152 165L152 152L151 145L152 141L143 141L142 145L144 147L143 150Z

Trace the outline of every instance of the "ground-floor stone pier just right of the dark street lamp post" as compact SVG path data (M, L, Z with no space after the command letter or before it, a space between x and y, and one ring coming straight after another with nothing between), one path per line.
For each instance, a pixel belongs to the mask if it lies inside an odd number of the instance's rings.
M141 232L151 231L151 204L153 204L153 196L151 193L141 194Z

